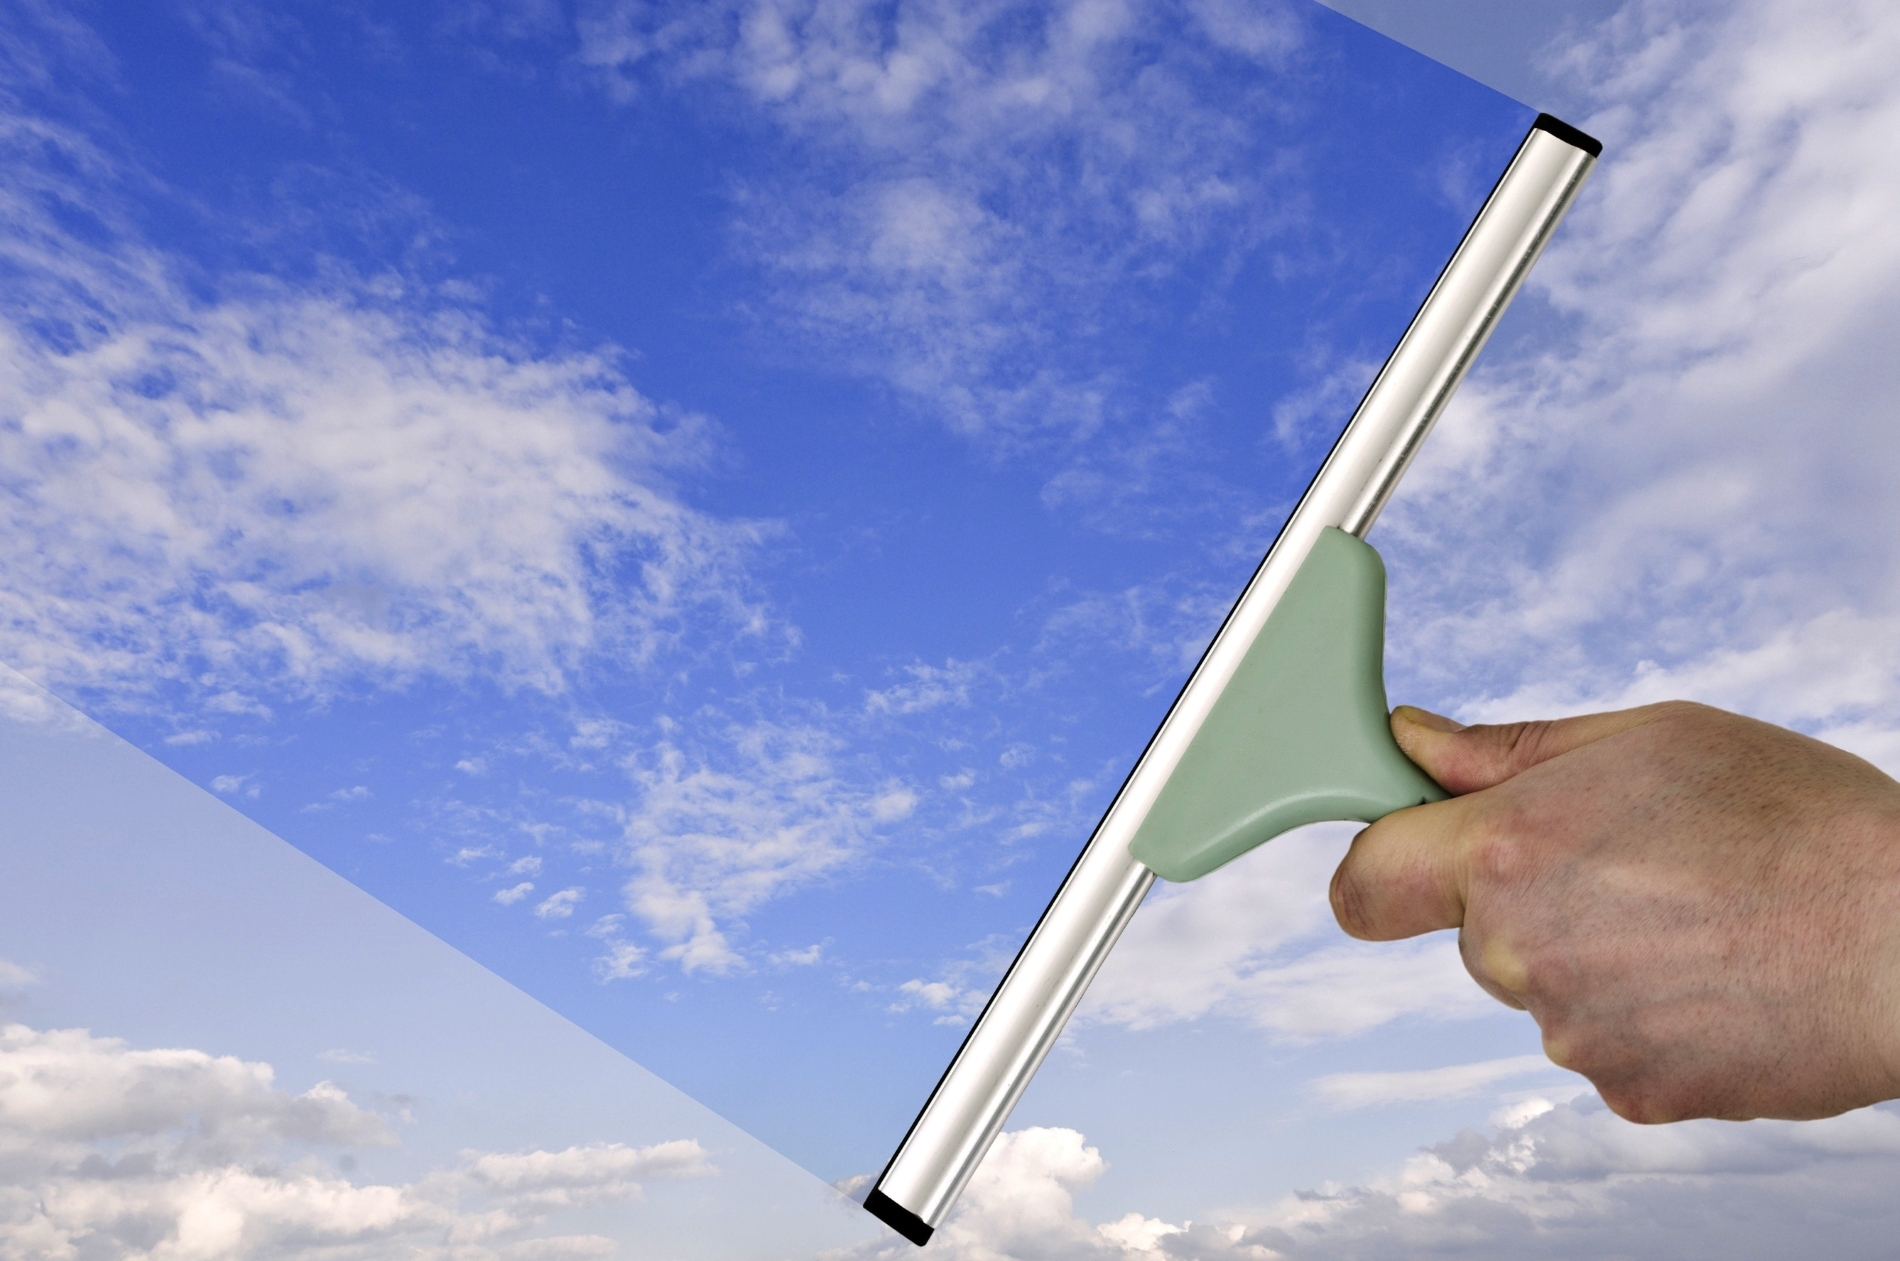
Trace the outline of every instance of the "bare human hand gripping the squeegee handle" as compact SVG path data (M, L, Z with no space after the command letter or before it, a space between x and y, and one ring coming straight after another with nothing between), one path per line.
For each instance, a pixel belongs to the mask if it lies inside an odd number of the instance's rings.
M1454 796L1353 841L1340 925L1471 974L1640 1122L1900 1098L1900 784L1702 705L1492 727L1400 706Z

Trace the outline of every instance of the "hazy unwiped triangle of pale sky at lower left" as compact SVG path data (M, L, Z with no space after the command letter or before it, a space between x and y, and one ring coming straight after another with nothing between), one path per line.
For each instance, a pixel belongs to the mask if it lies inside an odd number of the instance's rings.
M815 1255L834 1191L6 672L0 1240ZM25 1202L13 1196L27 1196Z

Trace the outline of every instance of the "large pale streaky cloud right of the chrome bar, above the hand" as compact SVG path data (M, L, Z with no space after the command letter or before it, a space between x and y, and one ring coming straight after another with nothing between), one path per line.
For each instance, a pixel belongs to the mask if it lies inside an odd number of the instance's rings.
M1900 547L1868 524L1900 484L1896 55L1864 0L1640 0L1558 49L1606 160L1533 275L1541 336L1376 534L1408 687L1900 729Z

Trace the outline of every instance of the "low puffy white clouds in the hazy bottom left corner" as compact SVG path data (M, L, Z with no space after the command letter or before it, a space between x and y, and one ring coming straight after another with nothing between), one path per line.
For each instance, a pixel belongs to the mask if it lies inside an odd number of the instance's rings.
M361 1063L359 1052L327 1052ZM84 1029L0 1029L0 1255L372 1261L606 1255L602 1236L532 1233L718 1174L692 1139L464 1153L414 1183L357 1183L312 1149L388 1147L390 1126L268 1063L144 1050Z

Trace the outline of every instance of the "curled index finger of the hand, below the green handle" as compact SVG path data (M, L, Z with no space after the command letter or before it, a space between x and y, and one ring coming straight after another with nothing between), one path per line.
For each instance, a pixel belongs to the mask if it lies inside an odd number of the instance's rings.
M1332 913L1351 936L1391 942L1465 925L1465 836L1474 798L1395 811L1353 838L1332 874Z

